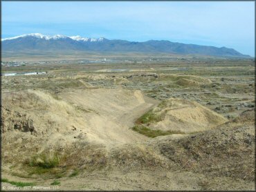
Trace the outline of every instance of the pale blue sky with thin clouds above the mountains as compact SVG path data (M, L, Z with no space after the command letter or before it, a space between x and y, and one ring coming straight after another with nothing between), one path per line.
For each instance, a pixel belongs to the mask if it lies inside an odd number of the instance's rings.
M1 38L28 33L225 46L255 56L254 1L2 1Z

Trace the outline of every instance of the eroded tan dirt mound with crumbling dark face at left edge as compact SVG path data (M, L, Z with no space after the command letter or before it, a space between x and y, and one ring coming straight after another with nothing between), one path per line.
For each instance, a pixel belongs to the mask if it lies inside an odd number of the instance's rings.
M73 106L38 90L3 93L2 101L2 133L30 131L33 135L42 135L66 131L75 115Z

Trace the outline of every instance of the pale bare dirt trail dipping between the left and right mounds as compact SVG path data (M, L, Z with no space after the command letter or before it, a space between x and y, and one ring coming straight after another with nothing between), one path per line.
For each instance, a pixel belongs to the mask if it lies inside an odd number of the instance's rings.
M138 90L73 90L62 93L60 97L89 111L84 116L86 134L91 136L93 142L106 146L147 140L147 137L129 128L134 125L136 118L158 104Z

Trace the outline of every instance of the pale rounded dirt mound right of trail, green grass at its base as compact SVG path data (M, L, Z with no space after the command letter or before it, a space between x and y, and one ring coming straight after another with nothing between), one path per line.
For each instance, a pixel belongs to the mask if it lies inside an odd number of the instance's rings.
M205 108L197 102L170 98L163 101L152 111L158 117L147 126L163 131L181 131L192 133L214 128L228 122L222 115Z

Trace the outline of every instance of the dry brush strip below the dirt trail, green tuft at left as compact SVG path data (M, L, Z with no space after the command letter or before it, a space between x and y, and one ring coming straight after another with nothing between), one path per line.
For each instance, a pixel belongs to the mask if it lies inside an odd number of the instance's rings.
M168 169L168 159L145 144L124 144L107 149L99 144L75 143L64 151L38 153L24 161L28 175L46 178L75 177L104 170Z

